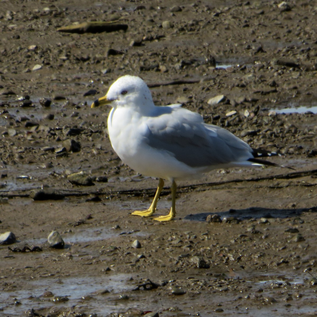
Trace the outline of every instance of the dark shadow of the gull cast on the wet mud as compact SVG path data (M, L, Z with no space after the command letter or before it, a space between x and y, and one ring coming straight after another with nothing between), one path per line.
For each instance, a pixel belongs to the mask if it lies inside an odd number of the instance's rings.
M303 212L317 212L317 206L310 208L297 209L277 209L277 208L262 208L250 207L247 209L230 209L228 211L220 212L201 212L197 214L190 214L184 217L184 220L205 221L209 215L219 215L222 219L224 217L236 217L240 220L258 219L258 218L289 218L300 216Z

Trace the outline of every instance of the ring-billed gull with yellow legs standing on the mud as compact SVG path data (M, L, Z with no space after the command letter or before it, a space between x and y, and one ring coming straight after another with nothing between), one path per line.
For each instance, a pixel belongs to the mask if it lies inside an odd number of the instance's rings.
M281 166L257 158L276 153L251 149L226 129L204 123L198 113L178 104L155 106L149 88L139 77L120 77L91 107L106 104L112 107L108 132L114 151L135 171L159 178L150 208L132 215L149 217L155 212L164 179L171 181L172 204L168 215L154 218L158 221L175 217L175 182L180 179L235 166Z

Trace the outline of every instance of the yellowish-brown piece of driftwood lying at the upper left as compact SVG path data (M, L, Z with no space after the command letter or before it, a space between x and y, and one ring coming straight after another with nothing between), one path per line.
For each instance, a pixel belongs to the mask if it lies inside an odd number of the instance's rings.
M127 24L120 24L115 22L104 22L104 21L94 21L94 22L84 22L81 24L74 24L63 26L57 29L58 32L66 33L101 33L101 32L113 32L124 30L128 28Z

